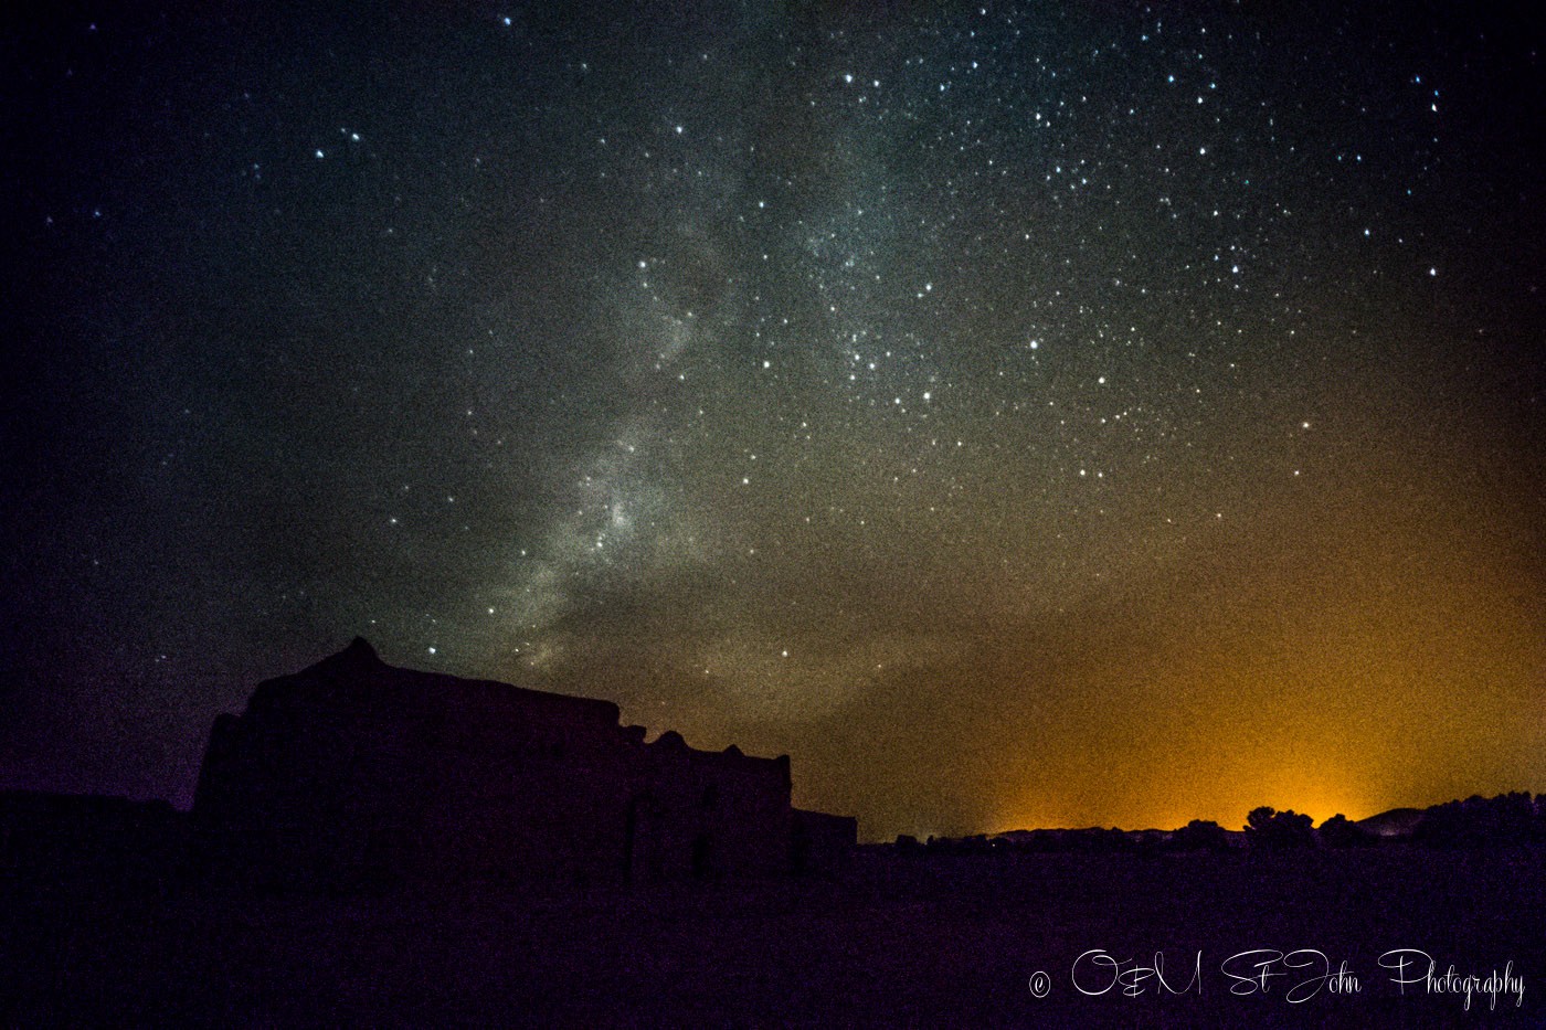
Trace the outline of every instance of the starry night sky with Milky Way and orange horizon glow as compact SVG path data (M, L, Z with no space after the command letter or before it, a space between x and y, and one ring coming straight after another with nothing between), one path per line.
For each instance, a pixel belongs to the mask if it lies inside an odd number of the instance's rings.
M362 634L866 838L1546 790L1529 5L25 6L0 786Z

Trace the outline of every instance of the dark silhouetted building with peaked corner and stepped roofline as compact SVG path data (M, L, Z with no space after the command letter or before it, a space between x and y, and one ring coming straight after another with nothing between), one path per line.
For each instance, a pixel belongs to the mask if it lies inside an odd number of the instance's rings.
M289 886L778 875L852 848L836 818L796 817L787 755L646 744L612 702L394 668L360 639L220 716L193 801L221 868Z

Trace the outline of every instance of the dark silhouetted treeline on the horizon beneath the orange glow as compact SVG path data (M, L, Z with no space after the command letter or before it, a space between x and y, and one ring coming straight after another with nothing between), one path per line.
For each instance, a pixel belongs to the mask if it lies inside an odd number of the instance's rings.
M1464 801L1435 804L1422 812L1413 810L1405 826L1381 817L1354 823L1345 815L1333 815L1320 826L1313 826L1308 815L1262 806L1251 812L1240 830L1228 830L1209 820L1192 820L1175 830L1037 829L974 837L929 837L926 841L904 834L897 838L895 848L920 854L989 851L1155 854L1379 848L1396 843L1449 849L1541 846L1546 844L1546 795L1531 796L1526 792L1500 793L1495 798L1473 795Z

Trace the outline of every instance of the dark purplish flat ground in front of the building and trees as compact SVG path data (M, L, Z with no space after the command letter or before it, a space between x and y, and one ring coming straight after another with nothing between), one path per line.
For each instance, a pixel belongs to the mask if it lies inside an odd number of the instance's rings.
M1540 1027L1543 858L867 851L832 880L569 899L12 877L0 1025Z

